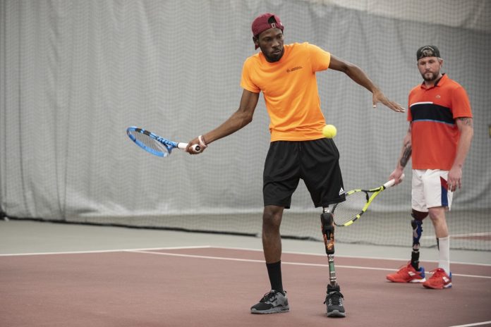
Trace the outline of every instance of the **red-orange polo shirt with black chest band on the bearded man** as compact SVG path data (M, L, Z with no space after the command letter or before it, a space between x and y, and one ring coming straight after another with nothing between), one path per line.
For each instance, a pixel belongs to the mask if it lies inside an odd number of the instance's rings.
M409 93L413 169L449 171L454 164L460 132L459 117L472 117L466 90L443 75L427 89L418 85Z

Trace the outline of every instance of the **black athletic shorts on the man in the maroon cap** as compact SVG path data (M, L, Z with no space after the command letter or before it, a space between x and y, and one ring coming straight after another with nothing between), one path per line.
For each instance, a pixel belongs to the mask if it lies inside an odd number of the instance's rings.
M263 173L265 206L289 209L291 195L300 179L307 186L315 207L345 200L339 151L332 139L271 142Z

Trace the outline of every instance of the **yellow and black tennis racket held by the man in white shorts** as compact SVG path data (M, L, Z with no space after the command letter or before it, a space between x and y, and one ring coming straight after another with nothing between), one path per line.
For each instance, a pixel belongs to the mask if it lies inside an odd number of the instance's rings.
M401 179L404 178L404 174L401 175ZM352 223L358 220L361 215L367 211L368 206L373 202L373 199L377 197L387 187L394 186L395 180L389 180L384 185L372 188L370 190L351 190L346 193L346 201L334 204L332 207L332 215L334 216L334 225L336 226L350 226Z

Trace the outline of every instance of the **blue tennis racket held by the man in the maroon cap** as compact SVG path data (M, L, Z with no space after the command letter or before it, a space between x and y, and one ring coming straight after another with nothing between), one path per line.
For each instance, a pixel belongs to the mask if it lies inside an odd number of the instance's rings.
M154 154L155 156L169 156L172 149L184 150L188 146L188 143L172 142L148 130L135 126L128 127L126 133L138 147L141 147L146 152ZM198 144L193 145L192 148L196 153L202 151Z

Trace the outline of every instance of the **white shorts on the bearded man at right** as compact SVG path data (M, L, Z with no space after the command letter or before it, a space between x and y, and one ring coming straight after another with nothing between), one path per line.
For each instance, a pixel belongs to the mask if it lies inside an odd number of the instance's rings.
M448 171L439 169L413 169L413 209L421 212L428 212L428 208L435 206L450 209L453 192L447 187L448 175Z

